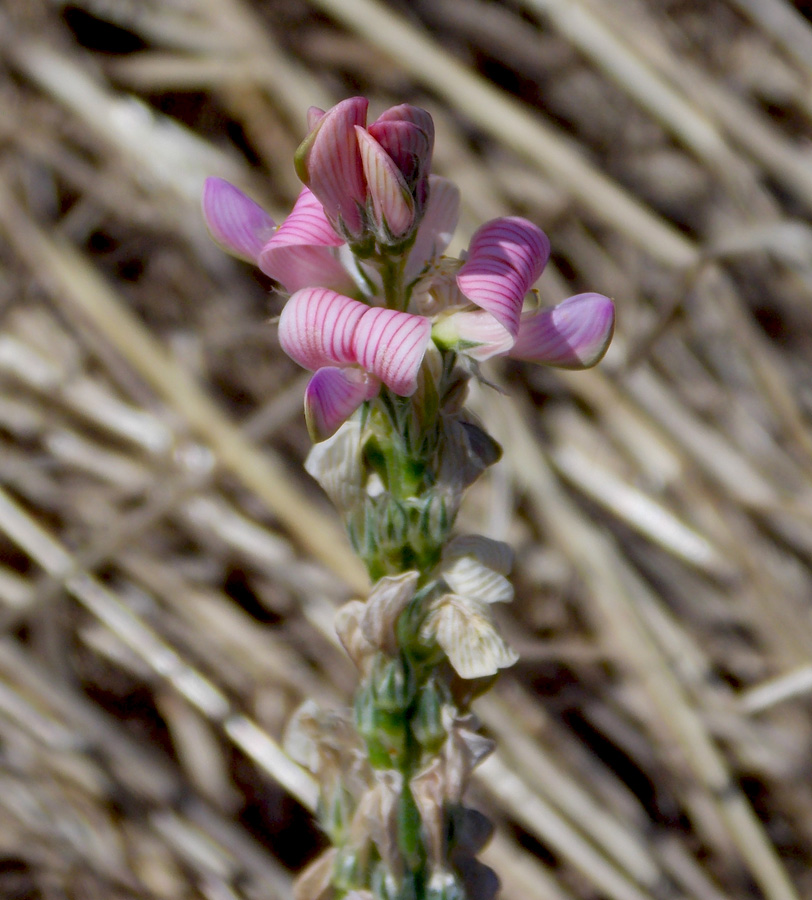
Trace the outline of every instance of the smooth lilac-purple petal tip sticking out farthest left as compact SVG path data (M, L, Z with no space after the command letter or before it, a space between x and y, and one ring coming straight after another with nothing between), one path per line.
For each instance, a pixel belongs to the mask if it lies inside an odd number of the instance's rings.
M276 227L261 206L222 178L206 179L203 218L211 236L227 253L253 263Z

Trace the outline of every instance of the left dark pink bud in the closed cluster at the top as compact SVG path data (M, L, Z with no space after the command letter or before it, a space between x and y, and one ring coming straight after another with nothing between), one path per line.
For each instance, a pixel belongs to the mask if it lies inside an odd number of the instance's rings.
M318 119L296 151L296 172L318 197L327 217L349 237L364 230L366 183L355 126L366 122L369 101L342 100Z

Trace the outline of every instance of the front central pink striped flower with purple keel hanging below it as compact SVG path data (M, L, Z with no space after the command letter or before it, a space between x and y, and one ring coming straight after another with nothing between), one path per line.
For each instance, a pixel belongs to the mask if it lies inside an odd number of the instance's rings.
M327 288L297 291L282 311L279 342L315 372L305 392L314 438L332 434L381 384L411 396L430 337L423 316L367 306Z

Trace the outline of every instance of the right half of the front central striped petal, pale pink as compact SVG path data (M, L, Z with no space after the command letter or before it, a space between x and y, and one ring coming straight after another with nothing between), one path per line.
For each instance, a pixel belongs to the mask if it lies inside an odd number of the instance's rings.
M431 336L423 316L368 308L353 334L355 359L401 397L417 390L417 373Z

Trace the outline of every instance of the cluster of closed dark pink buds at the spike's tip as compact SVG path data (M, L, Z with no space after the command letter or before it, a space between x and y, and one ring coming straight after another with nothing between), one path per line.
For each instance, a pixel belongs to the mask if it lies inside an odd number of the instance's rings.
M312 109L296 171L350 244L397 246L414 234L428 200L434 123L402 104L366 127L368 105L351 97L326 113Z

